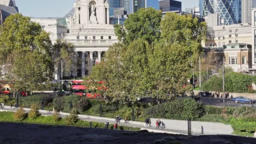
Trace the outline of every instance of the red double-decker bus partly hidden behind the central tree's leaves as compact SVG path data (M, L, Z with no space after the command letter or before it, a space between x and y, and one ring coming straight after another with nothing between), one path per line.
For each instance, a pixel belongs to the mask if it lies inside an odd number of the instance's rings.
M86 83L88 83L88 85L86 85ZM86 96L91 99L96 99L102 96L101 94L96 93L97 90L106 91L106 87L102 85L103 83L103 81L84 82L83 80L74 80L72 81L71 91L72 94L75 95Z

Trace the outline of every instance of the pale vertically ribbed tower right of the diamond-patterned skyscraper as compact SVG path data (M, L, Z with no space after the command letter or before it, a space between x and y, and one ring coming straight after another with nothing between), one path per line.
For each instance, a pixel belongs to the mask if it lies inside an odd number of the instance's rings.
M242 23L252 23L252 8L256 8L256 0L241 0Z

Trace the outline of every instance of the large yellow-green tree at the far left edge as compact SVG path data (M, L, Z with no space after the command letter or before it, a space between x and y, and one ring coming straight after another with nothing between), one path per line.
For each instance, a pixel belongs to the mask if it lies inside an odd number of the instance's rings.
M49 33L21 14L9 16L0 31L0 64L15 92L34 90L51 79L53 62Z

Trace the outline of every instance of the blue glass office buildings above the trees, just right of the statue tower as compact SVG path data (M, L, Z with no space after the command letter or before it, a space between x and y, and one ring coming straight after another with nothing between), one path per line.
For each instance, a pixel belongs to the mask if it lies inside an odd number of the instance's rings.
M122 4L127 11L127 14L136 13L140 8L154 8L159 10L158 0L123 0Z

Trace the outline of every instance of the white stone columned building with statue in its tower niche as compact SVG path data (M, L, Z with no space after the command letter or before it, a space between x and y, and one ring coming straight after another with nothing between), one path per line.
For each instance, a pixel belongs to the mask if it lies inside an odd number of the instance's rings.
M72 43L77 53L71 70L73 77L84 77L90 74L93 65L100 63L108 47L118 42L113 25L109 24L109 4L107 0L77 0L74 11L69 17L32 18L40 23L55 43L57 39ZM66 26L58 22L63 20ZM51 21L49 23L49 21ZM66 29L65 29L66 27ZM60 80L59 69L55 68L55 80Z

